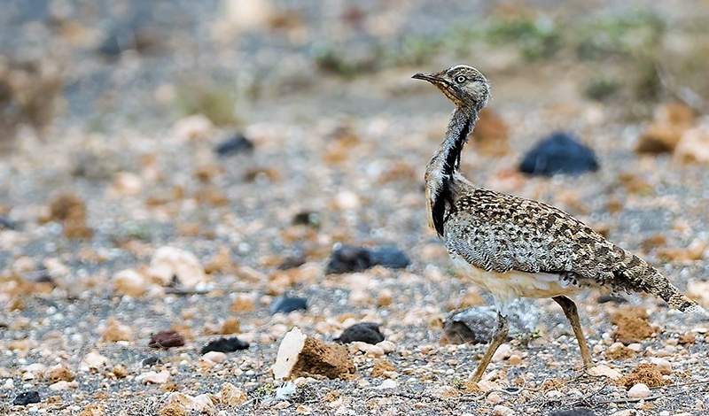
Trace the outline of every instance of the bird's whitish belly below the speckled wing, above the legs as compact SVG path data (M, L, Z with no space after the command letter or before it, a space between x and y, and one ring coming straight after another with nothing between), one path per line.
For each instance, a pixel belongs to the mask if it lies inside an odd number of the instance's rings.
M557 297L573 295L581 290L571 282L562 281L558 274L486 272L472 266L464 258L453 258L458 270L480 289L487 290L499 302L508 304L518 297Z

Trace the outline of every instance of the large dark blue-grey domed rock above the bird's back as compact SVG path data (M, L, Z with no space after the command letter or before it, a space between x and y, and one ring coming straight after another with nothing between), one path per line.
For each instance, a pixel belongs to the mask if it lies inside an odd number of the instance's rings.
M597 170L598 160L594 151L567 133L549 135L529 150L519 165L520 172L538 176Z

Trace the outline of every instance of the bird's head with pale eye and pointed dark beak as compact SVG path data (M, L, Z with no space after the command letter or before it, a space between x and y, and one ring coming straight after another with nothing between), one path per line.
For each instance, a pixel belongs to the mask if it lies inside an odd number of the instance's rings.
M490 82L477 69L456 65L440 73L417 73L412 78L429 81L458 107L485 107L490 98Z

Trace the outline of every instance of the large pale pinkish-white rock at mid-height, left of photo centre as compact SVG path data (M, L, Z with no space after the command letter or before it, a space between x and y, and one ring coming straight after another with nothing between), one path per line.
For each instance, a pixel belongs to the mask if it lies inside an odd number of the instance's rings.
M197 256L175 247L160 247L152 256L148 274L168 286L176 276L183 288L194 288L206 282L206 273Z

